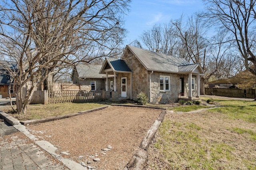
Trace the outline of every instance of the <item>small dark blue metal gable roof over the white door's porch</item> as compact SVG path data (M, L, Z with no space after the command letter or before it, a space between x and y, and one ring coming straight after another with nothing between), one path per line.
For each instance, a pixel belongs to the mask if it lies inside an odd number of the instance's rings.
M132 72L128 65L123 60L106 58L102 68L100 69L100 74L104 74L104 70L110 69L111 72Z

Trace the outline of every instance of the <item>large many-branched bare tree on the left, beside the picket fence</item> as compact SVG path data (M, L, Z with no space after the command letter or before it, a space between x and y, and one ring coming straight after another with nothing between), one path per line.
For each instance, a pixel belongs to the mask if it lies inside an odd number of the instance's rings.
M18 63L18 113L26 113L37 86L67 65L117 54L130 0L4 0L0 48ZM49 82L46 81L46 82ZM48 85L46 85L47 87Z

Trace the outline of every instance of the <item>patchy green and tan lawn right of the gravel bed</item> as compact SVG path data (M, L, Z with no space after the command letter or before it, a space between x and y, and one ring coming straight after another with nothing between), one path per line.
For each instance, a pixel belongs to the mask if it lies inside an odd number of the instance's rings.
M215 99L224 107L166 113L146 170L256 169L256 102Z

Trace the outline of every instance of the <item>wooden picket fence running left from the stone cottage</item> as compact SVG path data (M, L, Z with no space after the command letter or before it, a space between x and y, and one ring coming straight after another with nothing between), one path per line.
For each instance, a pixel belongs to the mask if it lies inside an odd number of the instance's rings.
M96 102L103 100L104 90L85 91L85 90L65 90L48 92L48 103L63 102Z

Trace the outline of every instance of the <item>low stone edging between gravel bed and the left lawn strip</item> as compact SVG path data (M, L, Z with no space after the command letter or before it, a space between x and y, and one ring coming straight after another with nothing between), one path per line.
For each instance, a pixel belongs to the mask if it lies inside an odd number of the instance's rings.
M20 123L22 125L29 125L29 124L34 125L34 124L37 124L37 123L45 123L45 122L48 122L48 121L60 120L60 119L73 117L73 116L76 116L76 115L82 115L82 114L85 114L85 113L91 113L91 112L94 112L94 111L99 111L99 110L105 109L107 107L108 106L102 106L102 107L98 107L96 109L90 109L90 110L86 110L86 111L79 111L78 113L72 113L72 114L60 115L60 116L53 116L53 117L46 117L46 118L35 119L35 120L26 120L26 121L21 121Z

